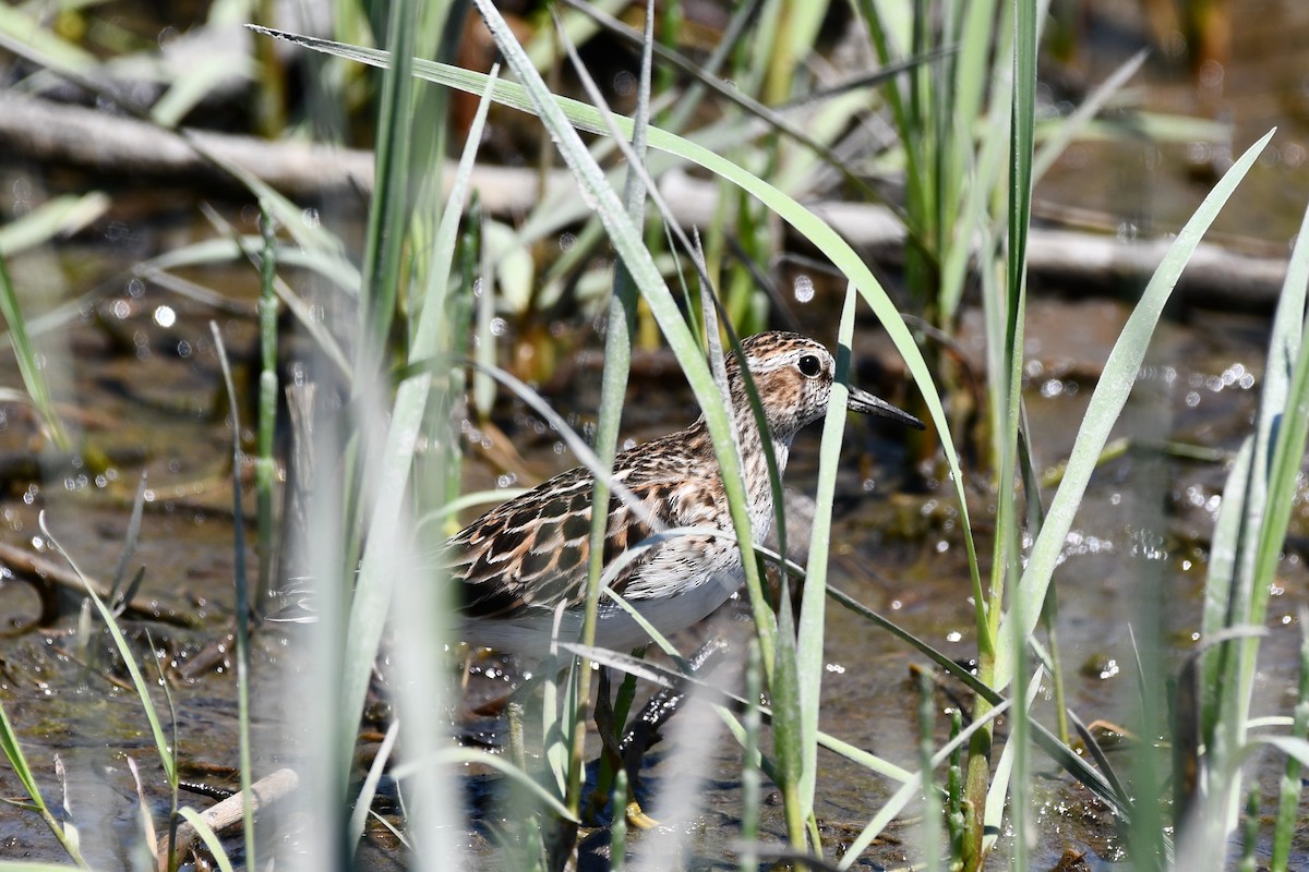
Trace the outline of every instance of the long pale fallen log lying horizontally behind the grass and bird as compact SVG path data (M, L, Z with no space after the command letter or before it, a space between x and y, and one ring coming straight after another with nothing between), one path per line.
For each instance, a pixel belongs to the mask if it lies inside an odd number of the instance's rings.
M223 159L255 174L292 197L323 195L334 190L368 193L373 187L373 156L326 145L278 141L192 131L206 148ZM38 162L71 163L106 175L139 174L153 179L196 179L232 184L186 141L152 124L97 110L52 103L0 92L0 152ZM453 174L446 166L446 178ZM545 179L546 191L541 190ZM568 190L564 170L542 175L526 167L480 165L473 187L492 214L521 216L556 190ZM704 226L717 213L719 186L679 171L660 182L679 222ZM905 229L878 205L836 200L810 203L851 244L882 263L903 258ZM1169 241L1123 242L1071 230L1033 227L1028 238L1028 269L1033 278L1062 286L1127 289L1144 285L1166 251ZM1285 277L1285 261L1255 258L1202 243L1178 285L1186 302L1225 309L1270 310Z

